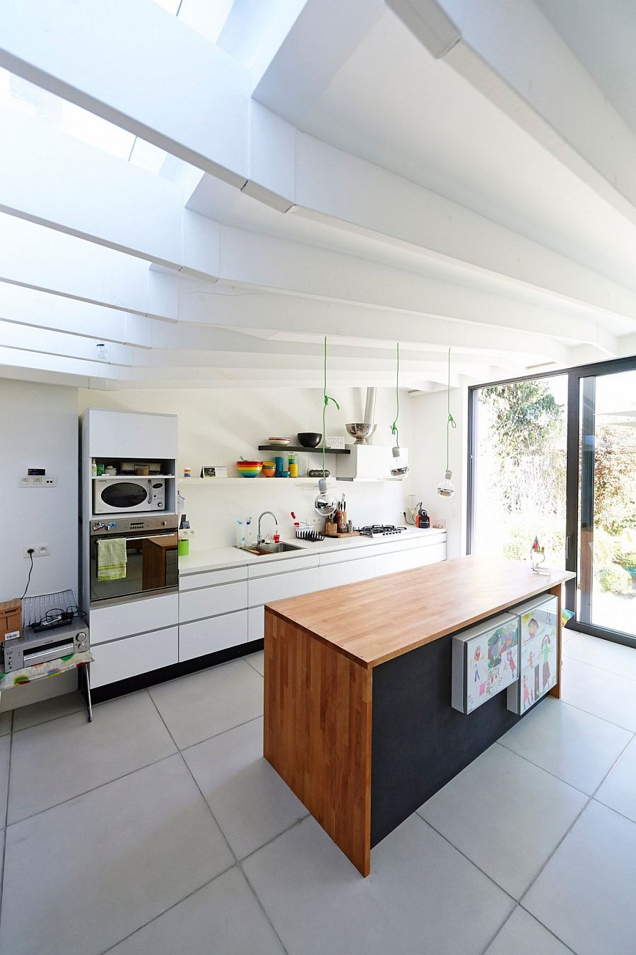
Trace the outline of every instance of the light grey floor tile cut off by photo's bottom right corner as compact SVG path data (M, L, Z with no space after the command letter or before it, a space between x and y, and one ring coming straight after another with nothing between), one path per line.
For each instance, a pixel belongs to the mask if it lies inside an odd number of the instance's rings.
M523 905L578 955L633 955L636 824L592 801Z

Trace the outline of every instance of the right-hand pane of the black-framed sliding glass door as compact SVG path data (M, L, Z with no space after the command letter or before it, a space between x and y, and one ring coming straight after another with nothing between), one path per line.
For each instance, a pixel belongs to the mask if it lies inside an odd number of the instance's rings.
M636 638L636 370L579 378L577 619Z

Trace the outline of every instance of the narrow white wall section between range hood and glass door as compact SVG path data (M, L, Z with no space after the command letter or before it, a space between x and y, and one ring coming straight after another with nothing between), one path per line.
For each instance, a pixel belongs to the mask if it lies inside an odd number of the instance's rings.
M423 501L431 522L446 524L449 558L466 553L466 474L468 457L468 391L451 390L451 414L457 427L451 429L450 467L455 495L440 498L437 484L446 471L446 392L413 396L411 406L412 437L409 445L413 494Z

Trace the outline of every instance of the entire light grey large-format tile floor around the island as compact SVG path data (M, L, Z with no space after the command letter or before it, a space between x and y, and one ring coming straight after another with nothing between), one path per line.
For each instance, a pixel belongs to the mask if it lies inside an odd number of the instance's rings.
M263 759L263 654L0 717L1 955L634 955L636 650L549 699L361 879Z

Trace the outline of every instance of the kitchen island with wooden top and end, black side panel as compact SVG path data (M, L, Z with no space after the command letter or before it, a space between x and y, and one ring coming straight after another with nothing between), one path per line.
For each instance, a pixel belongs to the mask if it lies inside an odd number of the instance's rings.
M505 692L453 709L453 634L553 594L559 696L573 576L464 557L265 606L265 758L363 876L373 845L523 718Z

